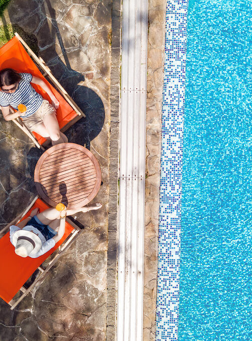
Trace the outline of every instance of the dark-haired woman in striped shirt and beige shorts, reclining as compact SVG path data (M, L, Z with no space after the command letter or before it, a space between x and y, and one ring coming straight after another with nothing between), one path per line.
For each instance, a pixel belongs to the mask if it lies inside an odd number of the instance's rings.
M52 105L35 91L30 83L40 85L50 96ZM6 121L21 117L26 126L42 137L50 138L52 145L68 142L59 130L56 111L59 102L48 85L30 73L18 73L13 69L0 71L0 106ZM26 112L10 112L10 106L18 110L18 105L26 106Z

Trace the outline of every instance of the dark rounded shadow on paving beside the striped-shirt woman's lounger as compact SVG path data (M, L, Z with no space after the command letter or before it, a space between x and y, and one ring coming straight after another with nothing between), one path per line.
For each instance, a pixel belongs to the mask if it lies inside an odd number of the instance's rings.
M18 4L14 4L13 6L17 7ZM17 20L19 22L21 21L20 14L14 11L16 7L9 7L9 17L11 23L14 24ZM27 11L29 12L29 9L27 9ZM100 133L105 121L104 105L101 98L94 90L80 84L80 82L85 81L84 74L71 68L67 49L65 47L65 44L68 44L68 42L64 42L61 37L58 22L56 20L56 12L52 8L49 0L40 1L40 12L43 12L46 15L46 19L43 21L42 27L40 28L42 29L42 33L36 33L40 39L38 41L38 45L40 47L39 55L41 55L47 63L53 76L60 82L86 115L86 118L80 119L77 123L70 127L65 134L68 136L69 142L82 145L86 144L86 148L90 149L91 140ZM26 13L26 17L22 19L25 21L27 20L27 17L29 17L28 13ZM49 17L50 20L47 19ZM34 26L35 25L36 23L34 21ZM36 30L37 27L29 27L30 32L35 32ZM69 29L69 34L70 33L71 29ZM37 40L34 34L30 35L33 39L35 38ZM56 51L56 41L57 45L60 47L60 52L58 51L58 48ZM59 54L64 62L59 58ZM50 82L49 79L47 80Z

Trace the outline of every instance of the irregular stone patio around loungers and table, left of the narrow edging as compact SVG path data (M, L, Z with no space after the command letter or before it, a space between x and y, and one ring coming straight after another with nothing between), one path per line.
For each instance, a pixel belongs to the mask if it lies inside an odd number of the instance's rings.
M76 214L83 228L76 243L14 311L0 301L0 339L105 340L111 2L13 0L2 22L37 39L39 56L86 114L67 135L98 159L103 185L93 202L103 207ZM5 225L36 194L33 172L41 152L2 117L0 131L0 221Z

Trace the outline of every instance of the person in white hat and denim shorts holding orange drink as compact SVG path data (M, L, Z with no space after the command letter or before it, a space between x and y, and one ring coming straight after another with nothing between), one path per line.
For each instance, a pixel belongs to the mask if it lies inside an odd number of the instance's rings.
M10 227L10 239L15 247L15 253L21 257L37 258L52 249L65 233L66 216L77 212L98 210L101 203L96 206L82 207L73 210L57 211L49 208L41 213L34 209L31 215L22 220L17 226Z

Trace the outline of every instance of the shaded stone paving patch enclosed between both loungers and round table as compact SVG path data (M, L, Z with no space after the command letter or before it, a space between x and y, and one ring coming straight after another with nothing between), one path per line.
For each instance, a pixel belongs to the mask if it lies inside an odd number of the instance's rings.
M29 176L27 140L15 136L15 125L0 118L0 224L15 219L34 197L35 187ZM29 148L29 145L28 145Z

